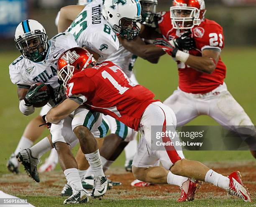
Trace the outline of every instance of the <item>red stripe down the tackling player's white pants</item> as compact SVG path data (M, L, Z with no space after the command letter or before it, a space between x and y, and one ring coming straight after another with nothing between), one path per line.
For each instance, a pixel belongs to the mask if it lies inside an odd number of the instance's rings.
M161 108L161 107L160 107ZM161 108L161 110L164 112L164 110ZM164 124L163 124L163 129L162 131L165 133L166 132L166 118L165 118L165 113L164 113ZM168 141L172 142L172 140L169 138L169 136L164 136L162 137L162 141L164 143L168 143ZM178 160L181 160L179 154L177 153L176 149L174 148L174 146L164 146L171 162L174 164L176 163Z

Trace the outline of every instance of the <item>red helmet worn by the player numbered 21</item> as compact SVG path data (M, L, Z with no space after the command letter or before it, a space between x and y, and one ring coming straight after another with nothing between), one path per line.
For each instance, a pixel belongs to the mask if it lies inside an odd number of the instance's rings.
M174 0L170 8L172 26L175 29L191 29L201 24L205 12L204 0Z

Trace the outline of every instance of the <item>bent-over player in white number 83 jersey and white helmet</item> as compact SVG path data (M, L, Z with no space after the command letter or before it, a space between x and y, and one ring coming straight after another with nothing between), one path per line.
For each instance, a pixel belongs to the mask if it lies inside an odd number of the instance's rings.
M72 33L80 47L90 51L101 63L119 48L117 33L135 38L140 29L141 5L136 1L95 0L83 5L61 8L58 32Z

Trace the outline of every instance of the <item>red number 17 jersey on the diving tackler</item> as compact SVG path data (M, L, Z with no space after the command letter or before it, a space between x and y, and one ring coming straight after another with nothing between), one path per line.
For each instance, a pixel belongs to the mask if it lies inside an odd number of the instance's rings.
M133 84L111 61L85 69L69 80L67 97L79 99L91 110L112 116L138 130L141 116L155 101L154 93Z

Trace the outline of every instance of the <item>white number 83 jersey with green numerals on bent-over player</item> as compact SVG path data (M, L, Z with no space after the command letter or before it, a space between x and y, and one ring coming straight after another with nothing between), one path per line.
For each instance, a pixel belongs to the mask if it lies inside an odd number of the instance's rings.
M88 47L100 55L97 63L105 61L119 48L116 33L101 14L102 0L88 4L67 31L72 33L79 47Z

